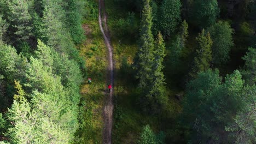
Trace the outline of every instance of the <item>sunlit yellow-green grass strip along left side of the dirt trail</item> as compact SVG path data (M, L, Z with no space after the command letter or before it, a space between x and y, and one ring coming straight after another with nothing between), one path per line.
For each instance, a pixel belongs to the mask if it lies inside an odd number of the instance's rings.
M97 10L96 1L91 1ZM104 92L106 91L107 54L97 17L85 20L83 28L86 34L84 44L79 46L80 56L86 59L88 78L80 87L82 94L82 127L79 143L102 143Z

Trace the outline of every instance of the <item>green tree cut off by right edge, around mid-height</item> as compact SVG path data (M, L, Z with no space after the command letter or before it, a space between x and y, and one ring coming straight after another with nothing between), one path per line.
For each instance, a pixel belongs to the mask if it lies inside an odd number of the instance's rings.
M245 69L242 71L242 74L245 76L248 85L254 85L256 83L256 49L249 47L248 50L246 55L242 57L245 61Z

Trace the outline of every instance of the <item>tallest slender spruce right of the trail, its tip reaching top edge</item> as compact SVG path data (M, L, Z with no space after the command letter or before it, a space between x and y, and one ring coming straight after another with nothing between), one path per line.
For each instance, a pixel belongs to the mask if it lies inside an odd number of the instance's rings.
M147 89L149 83L152 83L152 65L154 63L154 39L152 35L152 8L150 0L144 0L142 10L139 51L135 59L135 68L137 70L136 78L139 79L139 87Z

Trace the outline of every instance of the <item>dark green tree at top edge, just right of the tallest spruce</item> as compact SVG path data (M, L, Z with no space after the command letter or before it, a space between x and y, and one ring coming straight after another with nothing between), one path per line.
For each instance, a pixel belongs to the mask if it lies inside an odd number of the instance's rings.
M164 0L160 7L158 26L161 33L170 36L181 21L181 1Z

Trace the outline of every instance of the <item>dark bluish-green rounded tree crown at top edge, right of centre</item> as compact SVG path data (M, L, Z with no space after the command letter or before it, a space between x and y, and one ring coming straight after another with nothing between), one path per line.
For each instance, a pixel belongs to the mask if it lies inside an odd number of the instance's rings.
M190 5L190 21L199 28L206 28L216 22L219 15L217 0L195 0Z

